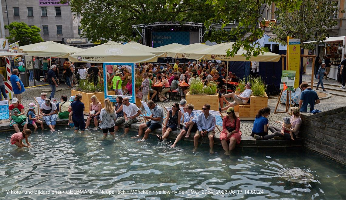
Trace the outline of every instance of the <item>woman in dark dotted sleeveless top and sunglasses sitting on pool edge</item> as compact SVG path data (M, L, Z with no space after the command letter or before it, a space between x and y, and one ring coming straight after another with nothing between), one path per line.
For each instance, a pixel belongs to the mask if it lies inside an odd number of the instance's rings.
M182 113L178 103L173 103L172 109L167 113L165 125L162 128L162 136L157 135L160 142L169 136L171 131L180 130L180 119Z

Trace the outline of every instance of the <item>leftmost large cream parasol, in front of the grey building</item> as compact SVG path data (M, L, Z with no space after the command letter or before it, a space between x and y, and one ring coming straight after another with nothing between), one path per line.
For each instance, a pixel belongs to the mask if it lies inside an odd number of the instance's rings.
M39 42L36 44L21 46L23 53L29 56L67 58L71 54L83 49L70 45L64 45L53 41Z

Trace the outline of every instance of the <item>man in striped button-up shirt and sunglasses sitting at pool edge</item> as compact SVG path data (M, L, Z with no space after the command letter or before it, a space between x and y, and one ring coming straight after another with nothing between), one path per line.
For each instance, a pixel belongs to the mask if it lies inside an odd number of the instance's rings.
M215 136L215 126L216 126L216 119L215 116L211 113L209 113L210 105L205 104L202 108L202 113L198 115L197 117L197 128L198 131L195 133L193 138L193 145L194 149L193 151L197 150L198 147L198 139L201 136L207 136L209 138L209 146L210 146L210 153L214 153L213 147L214 147L214 136Z

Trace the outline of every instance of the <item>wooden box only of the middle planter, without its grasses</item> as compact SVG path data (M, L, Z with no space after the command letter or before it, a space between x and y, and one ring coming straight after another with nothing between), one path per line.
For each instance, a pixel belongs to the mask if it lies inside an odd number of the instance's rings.
M216 95L198 95L186 94L185 100L188 104L194 105L194 109L201 110L204 104L210 104L212 111L219 111L219 94Z

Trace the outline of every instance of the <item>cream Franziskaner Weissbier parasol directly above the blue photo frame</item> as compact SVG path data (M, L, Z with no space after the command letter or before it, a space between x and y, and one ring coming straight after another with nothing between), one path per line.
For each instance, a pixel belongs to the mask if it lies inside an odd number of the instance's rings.
M109 41L69 56L72 62L84 63L142 63L156 62L157 55L138 50L129 45Z

